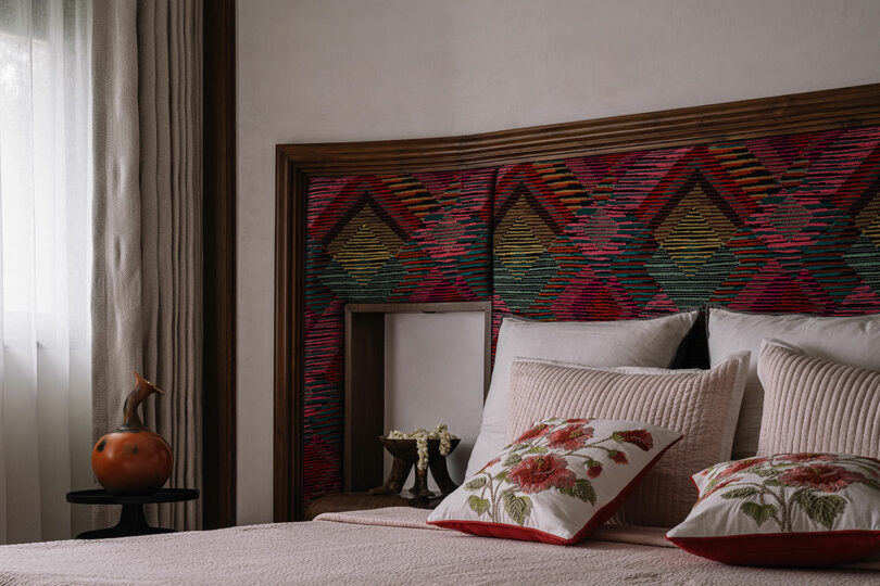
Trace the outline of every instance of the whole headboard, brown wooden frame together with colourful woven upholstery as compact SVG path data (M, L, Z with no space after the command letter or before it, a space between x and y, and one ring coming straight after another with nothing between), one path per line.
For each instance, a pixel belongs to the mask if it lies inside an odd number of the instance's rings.
M277 146L277 521L342 486L345 303L626 319L880 311L880 85Z

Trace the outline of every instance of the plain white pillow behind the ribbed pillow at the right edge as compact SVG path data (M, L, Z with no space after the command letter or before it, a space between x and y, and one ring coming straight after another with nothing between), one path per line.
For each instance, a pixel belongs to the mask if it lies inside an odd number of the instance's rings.
M749 351L752 361L733 438L733 459L754 456L760 434L764 387L757 377L760 343L771 337L794 344L814 358L880 370L880 314L815 317L802 314L741 314L720 307L708 310L712 365L734 352Z

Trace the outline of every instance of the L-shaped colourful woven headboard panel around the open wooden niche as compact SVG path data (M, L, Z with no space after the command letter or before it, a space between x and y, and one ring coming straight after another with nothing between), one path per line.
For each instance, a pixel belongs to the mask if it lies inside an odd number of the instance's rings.
M305 501L342 488L345 303L486 301L494 169L309 184Z

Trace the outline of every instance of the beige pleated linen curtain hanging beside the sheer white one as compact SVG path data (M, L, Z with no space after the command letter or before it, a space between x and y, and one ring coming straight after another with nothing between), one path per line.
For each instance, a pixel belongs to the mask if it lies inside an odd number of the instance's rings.
M201 488L202 472L201 18L200 0L93 3L92 431L120 425L138 370L165 391L144 421L171 444L180 488ZM200 528L201 504L148 518Z

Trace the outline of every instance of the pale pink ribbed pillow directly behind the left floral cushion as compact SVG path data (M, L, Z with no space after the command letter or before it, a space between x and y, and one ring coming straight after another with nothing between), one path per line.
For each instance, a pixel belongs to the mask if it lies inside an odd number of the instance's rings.
M517 359L507 440L550 417L643 421L681 433L615 515L617 523L671 527L696 500L691 474L730 454L747 371L749 353L711 370L595 369Z

